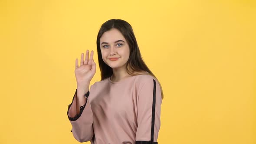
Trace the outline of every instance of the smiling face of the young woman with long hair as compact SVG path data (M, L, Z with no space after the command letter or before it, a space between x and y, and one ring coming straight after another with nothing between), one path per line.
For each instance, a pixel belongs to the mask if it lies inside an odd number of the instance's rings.
M103 61L113 69L125 68L130 56L130 49L125 37L118 29L103 33L100 38Z

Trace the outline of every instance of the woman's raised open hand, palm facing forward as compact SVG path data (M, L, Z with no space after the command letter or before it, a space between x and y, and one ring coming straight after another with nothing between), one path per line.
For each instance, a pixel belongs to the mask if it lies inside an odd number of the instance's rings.
M96 72L96 64L93 61L93 51L89 59L89 50L86 50L85 60L84 53L81 54L80 66L78 66L78 59L75 59L75 79L77 84L90 83Z

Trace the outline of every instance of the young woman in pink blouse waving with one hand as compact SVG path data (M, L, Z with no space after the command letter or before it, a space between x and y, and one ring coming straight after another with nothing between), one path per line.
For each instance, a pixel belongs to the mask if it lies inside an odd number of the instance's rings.
M93 51L75 59L77 88L68 107L72 134L91 144L157 144L161 85L144 63L133 29L124 20L108 20L97 36L101 81Z

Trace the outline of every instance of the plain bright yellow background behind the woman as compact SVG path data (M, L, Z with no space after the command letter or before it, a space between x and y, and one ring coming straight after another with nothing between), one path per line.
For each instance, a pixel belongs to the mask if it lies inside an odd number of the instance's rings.
M256 144L255 0L0 0L0 144L79 143L75 59L112 18L163 87L159 144Z

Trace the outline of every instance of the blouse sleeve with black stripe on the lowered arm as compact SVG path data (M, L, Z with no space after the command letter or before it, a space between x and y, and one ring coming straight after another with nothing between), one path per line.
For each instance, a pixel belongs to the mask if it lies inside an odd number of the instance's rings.
M161 113L161 88L155 79L147 79L138 92L136 144L158 144Z

